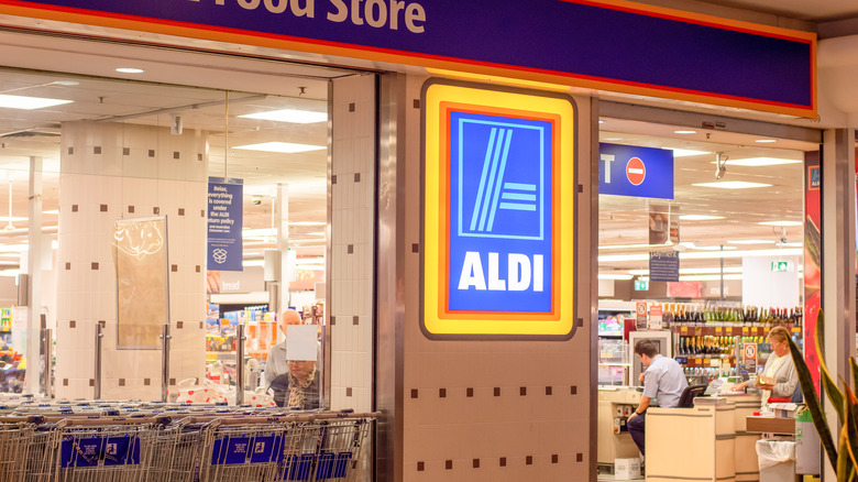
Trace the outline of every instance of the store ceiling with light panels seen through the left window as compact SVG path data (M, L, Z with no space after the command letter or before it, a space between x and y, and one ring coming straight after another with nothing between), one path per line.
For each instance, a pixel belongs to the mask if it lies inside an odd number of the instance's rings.
M297 223L290 227L290 245L298 250L298 255L323 254L320 247L324 245L327 221L327 150L276 154L233 147L268 141L327 146L328 122L297 124L240 116L284 108L327 112L328 80L350 72L145 47L120 52L103 43L57 44L56 39L40 40L36 48L31 37L0 32L3 64L29 68L0 69L0 94L73 102L37 110L0 109L2 242L26 242L30 156L44 158L43 209L58 208L63 122L95 120L168 127L175 114L182 117L185 132L210 133L209 175L223 176L226 155L229 177L244 180L245 228L271 228L276 185L288 185L289 222ZM145 73L119 74L114 72L117 67L141 67ZM54 68L68 73L51 72ZM94 72L113 78L85 75ZM229 150L224 146L227 139ZM10 187L15 229L4 230L9 223ZM56 215L44 216L46 232L55 233L56 226ZM273 242L245 240L245 259L262 259L262 250L274 247ZM0 252L0 270L16 265L15 254Z

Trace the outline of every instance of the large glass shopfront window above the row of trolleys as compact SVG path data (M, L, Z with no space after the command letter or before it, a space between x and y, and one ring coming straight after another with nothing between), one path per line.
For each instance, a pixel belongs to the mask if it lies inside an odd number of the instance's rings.
M372 75L166 48L158 62L151 47L119 43L91 52L106 48L75 73L0 70L0 390L241 403L267 395L292 309L304 327L289 330L311 350L290 358L316 364L318 394L305 398L329 406L331 240L346 221L332 221L330 92L369 78L350 88L372 99ZM26 48L9 52L8 64L33 64ZM372 160L374 147L350 155ZM28 335L38 315L43 343ZM196 399L195 387L217 396Z

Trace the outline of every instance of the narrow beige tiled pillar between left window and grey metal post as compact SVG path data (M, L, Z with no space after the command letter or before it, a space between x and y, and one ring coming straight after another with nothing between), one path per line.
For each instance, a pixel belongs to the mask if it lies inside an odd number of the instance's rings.
M331 86L331 408L372 408L375 76Z

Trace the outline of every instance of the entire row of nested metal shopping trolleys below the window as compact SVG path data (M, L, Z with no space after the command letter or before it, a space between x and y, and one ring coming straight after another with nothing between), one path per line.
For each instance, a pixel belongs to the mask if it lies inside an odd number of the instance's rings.
M346 481L377 414L0 417L0 482Z

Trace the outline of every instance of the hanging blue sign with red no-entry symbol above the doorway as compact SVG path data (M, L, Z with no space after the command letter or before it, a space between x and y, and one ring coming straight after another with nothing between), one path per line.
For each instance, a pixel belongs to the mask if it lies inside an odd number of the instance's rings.
M673 199L673 151L598 144L598 194Z

